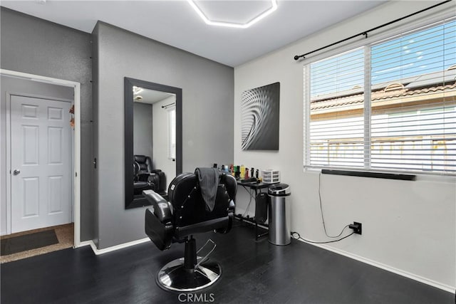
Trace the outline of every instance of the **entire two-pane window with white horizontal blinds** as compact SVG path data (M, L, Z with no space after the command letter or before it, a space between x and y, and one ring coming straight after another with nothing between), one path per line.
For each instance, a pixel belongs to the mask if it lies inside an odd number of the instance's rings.
M456 21L304 70L306 167L456 173Z

